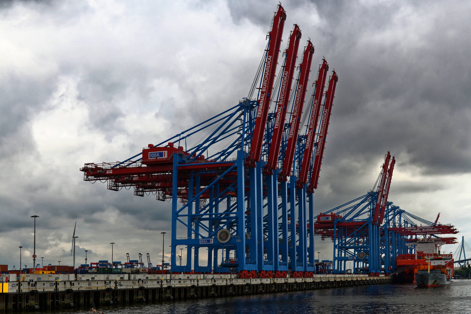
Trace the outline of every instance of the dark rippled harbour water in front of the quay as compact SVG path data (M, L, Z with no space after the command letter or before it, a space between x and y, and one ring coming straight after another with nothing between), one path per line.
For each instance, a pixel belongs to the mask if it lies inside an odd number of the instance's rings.
M383 284L243 297L169 301L141 306L106 306L97 310L98 313L105 314L471 314L471 280L454 280L447 287L437 288L417 288L412 284ZM91 311L68 310L60 311L60 313L83 314L91 313Z

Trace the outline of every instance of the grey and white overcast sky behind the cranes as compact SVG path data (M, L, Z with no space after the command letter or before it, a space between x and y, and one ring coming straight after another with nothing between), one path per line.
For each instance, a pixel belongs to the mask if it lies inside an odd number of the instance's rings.
M72 265L149 252L169 204L84 182L86 162L121 161L247 95L277 1L2 1L0 264ZM470 239L471 3L284 1L339 74L317 211L365 194L384 154L390 201ZM315 71L313 71L315 73ZM312 80L312 79L311 79ZM471 241L471 239L470 239ZM170 244L170 243L169 243ZM170 254L166 244L166 255ZM450 247L447 250L452 250ZM319 241L321 258L332 258ZM166 258L168 259L168 258Z

